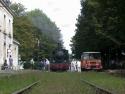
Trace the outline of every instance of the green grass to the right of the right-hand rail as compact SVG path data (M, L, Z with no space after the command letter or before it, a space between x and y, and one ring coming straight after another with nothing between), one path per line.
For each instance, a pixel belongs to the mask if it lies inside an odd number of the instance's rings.
M125 94L125 78L109 75L104 72L84 72L82 79L108 89L116 94Z

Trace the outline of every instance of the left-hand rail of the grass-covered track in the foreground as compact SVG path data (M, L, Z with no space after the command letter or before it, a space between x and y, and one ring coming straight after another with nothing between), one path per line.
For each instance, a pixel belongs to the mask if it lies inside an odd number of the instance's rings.
M24 94L26 91L30 90L34 85L36 85L38 83L39 83L39 81L36 81L36 82L34 82L34 83L32 83L32 84L30 84L30 85L28 85L20 90L13 92L12 94Z

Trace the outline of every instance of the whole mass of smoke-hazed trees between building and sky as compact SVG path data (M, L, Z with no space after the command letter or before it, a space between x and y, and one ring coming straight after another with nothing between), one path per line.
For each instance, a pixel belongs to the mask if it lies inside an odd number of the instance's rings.
M51 57L61 36L56 24L41 10L25 12L22 4L12 4L11 9L17 14L14 17L14 38L20 43L21 60L33 58L39 61L43 57Z

